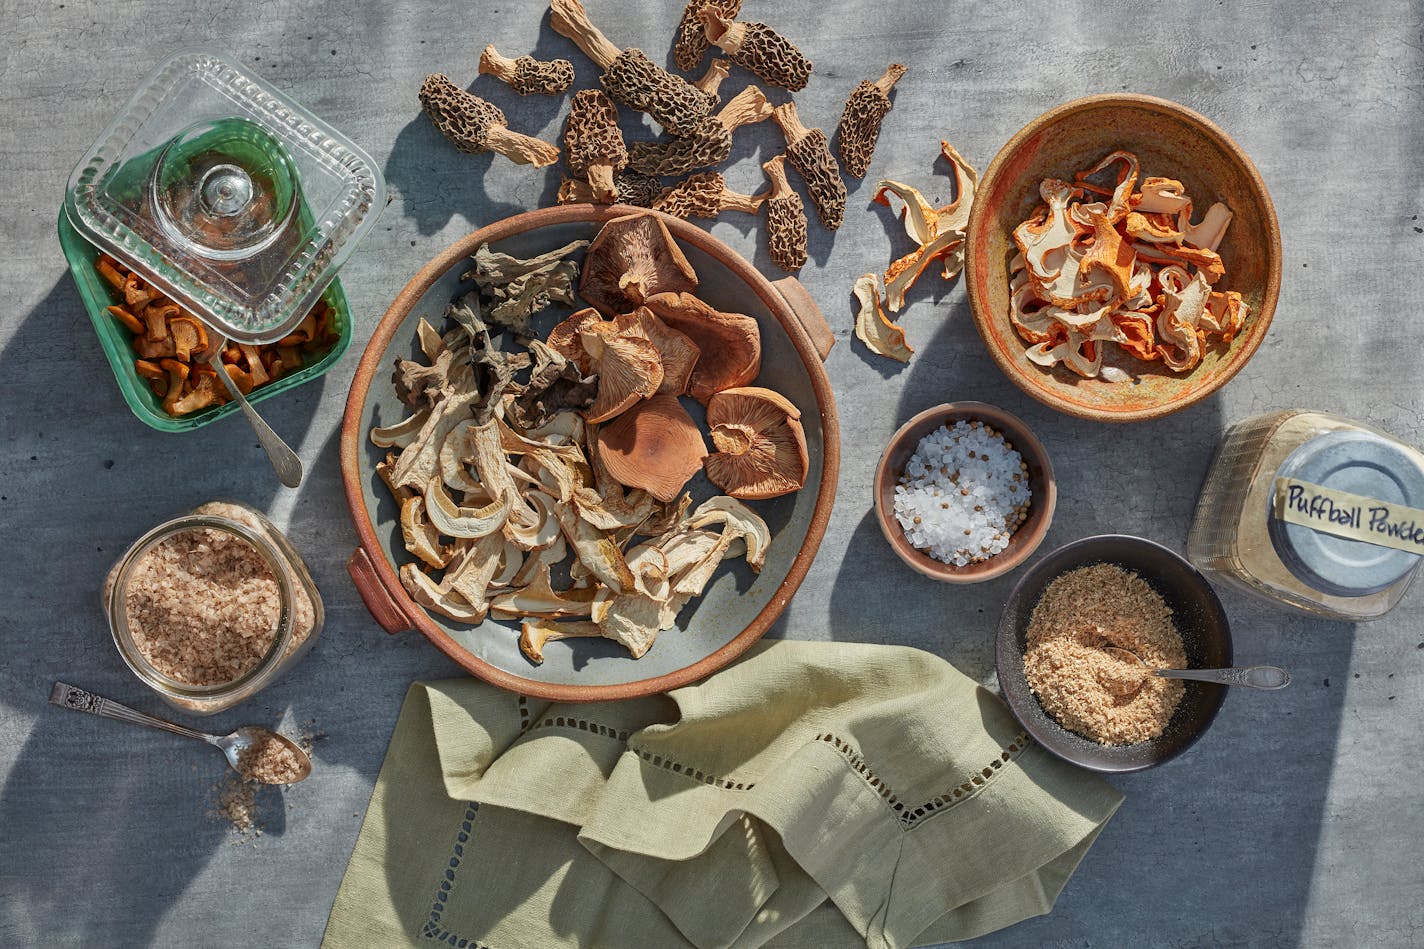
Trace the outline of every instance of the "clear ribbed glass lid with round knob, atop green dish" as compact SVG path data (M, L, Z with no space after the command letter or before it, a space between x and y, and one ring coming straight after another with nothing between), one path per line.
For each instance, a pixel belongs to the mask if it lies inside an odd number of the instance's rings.
M162 63L70 177L100 249L225 336L288 335L384 207L355 142L218 53Z

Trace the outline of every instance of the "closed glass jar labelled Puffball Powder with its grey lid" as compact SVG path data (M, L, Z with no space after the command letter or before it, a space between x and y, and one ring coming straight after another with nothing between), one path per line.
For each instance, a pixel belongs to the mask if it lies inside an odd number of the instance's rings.
M1424 455L1361 422L1287 410L1232 426L1186 556L1227 586L1331 620L1373 620L1424 563Z

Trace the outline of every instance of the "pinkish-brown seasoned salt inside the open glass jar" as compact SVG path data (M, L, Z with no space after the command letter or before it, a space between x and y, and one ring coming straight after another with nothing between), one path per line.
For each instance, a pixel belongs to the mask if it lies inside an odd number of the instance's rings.
M124 610L138 651L188 685L229 683L276 637L282 591L262 554L225 530L165 537L134 564Z

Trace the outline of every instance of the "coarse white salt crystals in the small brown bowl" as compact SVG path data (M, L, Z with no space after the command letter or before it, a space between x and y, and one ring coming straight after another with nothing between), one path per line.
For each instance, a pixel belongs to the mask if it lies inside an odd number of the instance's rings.
M1032 500L1028 466L983 422L930 432L894 489L894 516L914 547L943 563L983 563L1008 546Z

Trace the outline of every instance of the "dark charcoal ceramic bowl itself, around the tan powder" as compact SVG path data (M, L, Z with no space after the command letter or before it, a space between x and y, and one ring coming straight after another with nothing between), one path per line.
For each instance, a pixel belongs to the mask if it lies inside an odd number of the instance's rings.
M1189 668L1222 668L1232 664L1232 631L1222 603L1206 577L1186 560L1151 540L1102 534L1059 547L1020 577L998 621L998 685L1024 730L1064 761L1089 771L1142 771L1175 758L1200 738L1216 718L1226 687L1183 683L1186 693L1166 731L1135 745L1099 745L1054 721L1030 691L1024 675L1028 618L1049 581L1069 570L1096 563L1112 563L1131 570L1162 596L1172 607Z

